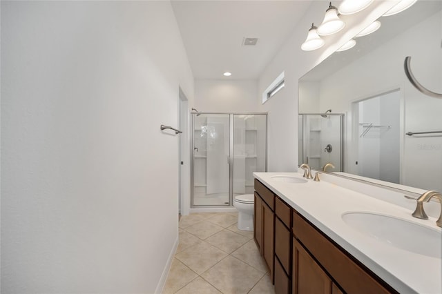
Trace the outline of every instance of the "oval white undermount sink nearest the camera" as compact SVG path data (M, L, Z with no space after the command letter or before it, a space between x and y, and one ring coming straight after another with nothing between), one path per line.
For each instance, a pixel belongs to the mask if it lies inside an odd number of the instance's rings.
M390 246L441 258L442 233L390 215L348 212L342 215L348 226Z

